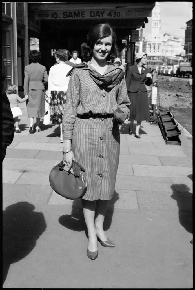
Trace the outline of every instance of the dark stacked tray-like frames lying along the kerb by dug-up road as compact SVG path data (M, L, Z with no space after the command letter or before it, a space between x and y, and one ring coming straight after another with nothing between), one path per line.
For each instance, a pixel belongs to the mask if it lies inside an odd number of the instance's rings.
M181 145L181 140L179 139L181 131L169 110L159 112L158 124L166 144Z

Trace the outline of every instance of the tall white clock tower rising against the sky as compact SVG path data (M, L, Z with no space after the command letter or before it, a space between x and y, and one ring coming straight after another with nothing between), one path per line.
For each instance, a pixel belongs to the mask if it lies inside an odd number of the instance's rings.
M160 37L160 29L161 29L161 17L160 17L160 4L159 2L155 3L154 8L152 9L152 39L156 37Z

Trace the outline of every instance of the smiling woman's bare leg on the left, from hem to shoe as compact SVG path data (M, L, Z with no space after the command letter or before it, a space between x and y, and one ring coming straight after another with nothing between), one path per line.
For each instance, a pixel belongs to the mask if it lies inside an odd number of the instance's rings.
M94 224L95 216L95 201L82 199L83 214L88 231L88 250L90 252L97 251L97 236Z

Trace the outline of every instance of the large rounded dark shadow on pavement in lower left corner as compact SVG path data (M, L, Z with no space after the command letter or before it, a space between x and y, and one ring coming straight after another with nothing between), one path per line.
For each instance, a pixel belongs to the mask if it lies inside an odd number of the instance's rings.
M3 211L3 283L11 264L25 258L46 229L43 213L34 205L17 202Z

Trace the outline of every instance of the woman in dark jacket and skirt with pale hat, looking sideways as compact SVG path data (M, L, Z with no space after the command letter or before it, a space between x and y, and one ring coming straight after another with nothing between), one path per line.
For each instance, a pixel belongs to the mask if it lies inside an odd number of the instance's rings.
M130 126L129 134L132 134L133 122L137 121L135 137L140 139L139 129L141 121L149 121L149 106L147 97L147 86L152 84L152 76L149 69L144 65L147 63L147 53L139 52L136 54L136 64L130 66L127 72L126 84L128 97L130 99Z

